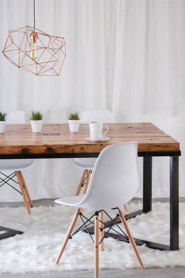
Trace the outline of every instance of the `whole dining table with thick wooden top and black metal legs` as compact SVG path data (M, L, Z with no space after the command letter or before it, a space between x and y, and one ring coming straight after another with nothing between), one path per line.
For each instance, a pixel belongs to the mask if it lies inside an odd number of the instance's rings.
M78 132L70 132L68 123L44 123L40 133L33 133L30 124L7 124L5 132L0 134L0 159L98 157L99 153L110 144L136 141L138 157L143 157L143 208L125 215L125 218L129 219L148 213L152 209L152 157L169 157L169 245L138 238L135 238L135 241L139 245L146 244L159 250L178 250L180 143L149 122L105 124L109 126L106 134L109 139L97 141L87 139L88 124L80 124ZM11 229L0 227L0 230L8 232ZM14 233L18 232L21 233L21 231ZM3 238L3 233L0 236ZM128 241L120 235L109 233L107 236Z

